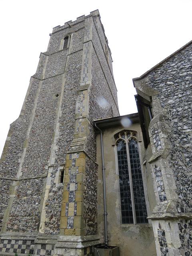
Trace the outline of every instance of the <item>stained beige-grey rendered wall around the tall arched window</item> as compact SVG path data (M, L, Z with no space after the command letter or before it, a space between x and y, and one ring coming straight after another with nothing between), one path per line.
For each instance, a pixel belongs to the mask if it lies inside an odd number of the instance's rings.
M133 121L133 120L132 120ZM115 123L115 120L114 120ZM98 127L99 123L97 124ZM106 125L107 126L107 125ZM101 127L100 127L101 128ZM121 198L120 198L120 180L118 172L117 148L114 144L114 136L122 131L136 131L140 163L145 157L145 149L143 144L142 132L139 122L125 128L121 124L110 125L102 128L103 147L104 147L104 163L105 163L105 185L106 185L106 209L107 209L107 227L108 227L108 245L119 246L120 255L144 256L156 255L155 241L152 224L122 224ZM104 235L104 202L103 202L103 177L102 177L102 155L100 134L97 135L97 162L98 162L98 232ZM142 167L142 178L144 182L146 205L148 216L150 215L150 207L148 204L149 193L153 193L151 189L151 174L147 176L146 170ZM153 195L154 199L154 195ZM153 202L154 204L154 202Z

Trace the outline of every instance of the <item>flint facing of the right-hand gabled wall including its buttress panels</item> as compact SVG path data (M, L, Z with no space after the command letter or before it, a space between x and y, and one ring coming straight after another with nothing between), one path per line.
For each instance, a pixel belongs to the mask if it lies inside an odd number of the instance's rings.
M152 148L155 152L168 148L170 154L166 162L174 174L176 188L174 192L178 195L176 210L178 214L188 218L192 214L192 44L188 44L152 70L145 78L145 84L158 91L156 96L152 96L155 118L158 112L164 113L159 122L150 126ZM160 104L159 107L157 102ZM159 134L159 126L164 136ZM164 184L162 170L158 164L154 165L153 172L159 199L165 201L167 200L165 187L167 189L169 187L168 180L167 184ZM175 222L175 225L180 231L179 252L185 256L192 255L191 220L180 219ZM166 244L166 232L159 239L161 255L169 255L170 246Z

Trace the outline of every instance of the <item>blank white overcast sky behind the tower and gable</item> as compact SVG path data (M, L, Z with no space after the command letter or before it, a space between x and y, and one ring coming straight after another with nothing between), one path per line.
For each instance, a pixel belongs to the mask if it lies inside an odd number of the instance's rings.
M137 112L132 78L192 40L192 0L1 0L0 155L52 28L96 9L114 60L121 115Z

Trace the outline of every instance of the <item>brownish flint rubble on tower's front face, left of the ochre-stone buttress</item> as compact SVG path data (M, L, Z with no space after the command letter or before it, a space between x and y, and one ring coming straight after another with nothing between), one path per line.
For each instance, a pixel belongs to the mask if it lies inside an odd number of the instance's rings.
M82 24L77 25L82 26ZM78 28L76 28L78 30ZM80 68L82 63L82 34L84 29L74 32L71 38L72 51L66 59L68 49L59 50L60 40L66 31L59 31L58 35L50 39L48 52L41 54L37 73L31 80L31 85L24 102L23 115L11 127L11 140L8 141L9 152L1 165L1 175L16 178L22 160L20 178L46 176L52 152L52 143L56 128L59 102L62 100L59 118L58 150L55 152L55 166L50 176L50 196L46 201L46 234L58 234L60 229L60 210L62 201L62 186L55 182L56 172L60 164L64 164L66 152L70 150L70 143L74 134L74 116L76 91L80 84ZM57 38L57 39L56 39ZM73 41L74 40L74 41ZM76 48L75 48L76 45ZM74 54L72 53L74 52ZM66 62L67 60L67 62ZM67 64L66 76L63 77ZM40 78L43 80L40 80ZM64 90L62 83L65 79ZM62 99L60 99L62 94ZM35 102L36 100L36 102ZM33 110L33 112L32 112ZM13 132L12 132L13 131ZM28 132L28 137L27 136ZM8 205L9 187L12 182L4 182L5 196L2 202L2 217ZM35 182L35 184L34 184ZM22 180L17 184L16 195L8 220L8 231L36 232L40 222L40 207L45 178ZM34 190L33 186L36 188ZM29 191L32 191L31 193ZM23 194L21 196L21 193ZM34 202L35 198L35 202ZM20 210L18 211L18 207ZM33 214L30 214L33 213ZM26 223L26 217L28 224ZM2 220L1 220L2 221ZM24 227L25 226L25 227Z

